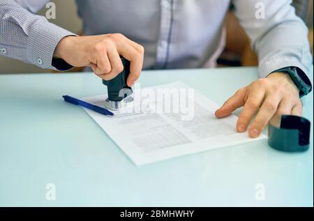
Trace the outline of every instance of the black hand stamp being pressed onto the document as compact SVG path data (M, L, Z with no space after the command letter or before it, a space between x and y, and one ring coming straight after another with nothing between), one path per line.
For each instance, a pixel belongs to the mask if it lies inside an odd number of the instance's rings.
M107 86L108 100L121 101L132 93L132 89L126 84L126 79L130 73L130 61L121 57L121 61L124 65L122 70L117 77L106 81L103 79L103 84Z

